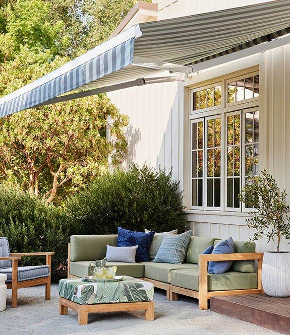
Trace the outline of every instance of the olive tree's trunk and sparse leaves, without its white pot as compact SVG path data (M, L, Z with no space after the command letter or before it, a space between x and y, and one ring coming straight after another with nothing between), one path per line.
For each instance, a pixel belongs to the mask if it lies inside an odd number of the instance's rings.
M246 219L248 227L255 230L252 239L266 235L269 242L276 237L277 252L281 238L290 238L290 207L286 204L286 196L285 190L280 190L266 170L261 171L261 176L255 177L252 184L243 187L240 194L241 202L254 208Z

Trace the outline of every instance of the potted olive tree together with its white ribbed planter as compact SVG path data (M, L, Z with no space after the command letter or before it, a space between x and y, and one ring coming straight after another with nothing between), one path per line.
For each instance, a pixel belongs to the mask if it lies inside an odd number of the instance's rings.
M246 219L248 227L255 232L251 240L266 236L268 243L277 242L277 250L264 253L262 285L265 293L273 297L290 296L290 252L280 251L282 237L290 237L290 207L286 204L286 192L280 190L276 180L261 171L254 182L243 187L240 200L253 208Z

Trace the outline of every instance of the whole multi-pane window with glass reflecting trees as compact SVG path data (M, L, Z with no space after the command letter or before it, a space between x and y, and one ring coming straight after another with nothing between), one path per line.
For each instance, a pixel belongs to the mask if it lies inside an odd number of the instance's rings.
M259 174L258 97L257 73L192 91L191 208L252 208L239 194Z

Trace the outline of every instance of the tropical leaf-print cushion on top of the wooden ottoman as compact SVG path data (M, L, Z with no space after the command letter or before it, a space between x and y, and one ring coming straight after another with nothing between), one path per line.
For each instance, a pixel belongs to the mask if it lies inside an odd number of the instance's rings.
M80 279L61 279L61 297L81 305L153 300L153 284L132 277L121 282L85 283Z

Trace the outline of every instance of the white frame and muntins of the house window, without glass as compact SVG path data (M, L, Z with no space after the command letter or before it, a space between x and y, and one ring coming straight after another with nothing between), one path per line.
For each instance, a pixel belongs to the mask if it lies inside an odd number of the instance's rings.
M230 114L237 114L240 113L240 122L241 122L241 133L240 133L240 191L242 187L245 185L245 126L244 126L244 117L245 113L248 111L260 111L259 107L259 96L253 97L249 99L244 99L241 101L235 101L232 103L227 103L227 84L233 81L237 81L240 79L246 79L248 77L254 77L260 75L259 71L252 71L246 73L243 71L243 74L239 76L227 75L224 76L222 79L219 80L210 80L210 84L197 86L190 90L190 113L189 113L189 120L190 120L190 202L189 202L189 209L196 210L196 213L224 213L231 215L244 215L253 209L246 209L244 204L240 203L239 208L229 208L227 207L227 124L226 124L226 117ZM193 93L197 91L201 91L203 89L211 88L214 86L221 86L221 105L214 106L210 108L203 108L199 110L193 110ZM261 88L259 91L259 95L261 94ZM261 117L261 116L260 116ZM207 120L211 118L220 118L221 119L221 176L220 176L220 207L208 207L207 206ZM203 206L192 206L192 124L195 122L203 122ZM260 147L259 147L260 149ZM260 160L260 155L259 155ZM198 178L197 178L198 179Z

